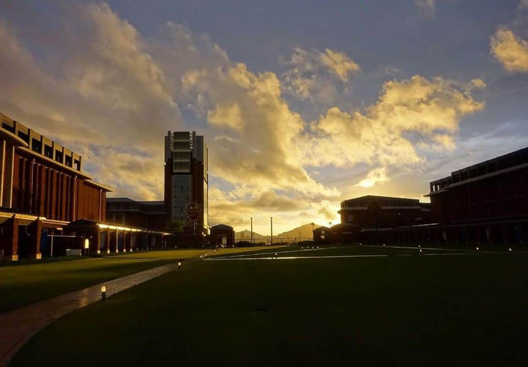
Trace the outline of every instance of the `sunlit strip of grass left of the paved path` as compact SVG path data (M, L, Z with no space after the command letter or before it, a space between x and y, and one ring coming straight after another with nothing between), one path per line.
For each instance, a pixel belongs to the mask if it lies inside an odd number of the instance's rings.
M261 249L223 249L218 253L253 250ZM58 257L40 263L23 263L23 265L11 263L9 266L0 266L0 312L161 266L167 261L183 260L204 253L213 253L213 251L210 249L142 251L104 258L71 260Z

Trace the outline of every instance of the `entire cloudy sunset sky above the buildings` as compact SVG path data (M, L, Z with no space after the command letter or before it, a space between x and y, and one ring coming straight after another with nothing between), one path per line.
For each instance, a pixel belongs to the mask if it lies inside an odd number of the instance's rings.
M167 130L209 145L210 224L338 223L362 195L528 146L528 0L0 0L0 111L163 199Z

